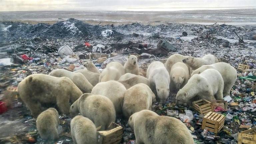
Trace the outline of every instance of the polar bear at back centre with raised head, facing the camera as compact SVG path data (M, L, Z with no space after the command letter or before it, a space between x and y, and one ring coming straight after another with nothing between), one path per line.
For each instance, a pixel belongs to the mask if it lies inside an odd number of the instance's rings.
M124 70L125 70L125 73L131 73L135 75L140 74L137 57L135 55L130 55L128 57L128 60L124 64Z

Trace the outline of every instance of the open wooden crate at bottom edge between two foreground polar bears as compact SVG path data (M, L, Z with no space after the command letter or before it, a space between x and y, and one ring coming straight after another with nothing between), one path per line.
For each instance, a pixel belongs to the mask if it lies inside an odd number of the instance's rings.
M122 141L123 127L112 122L108 131L97 132L97 144L119 144Z

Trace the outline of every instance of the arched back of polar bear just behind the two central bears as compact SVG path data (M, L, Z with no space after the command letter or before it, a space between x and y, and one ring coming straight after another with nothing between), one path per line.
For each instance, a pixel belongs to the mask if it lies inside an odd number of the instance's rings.
M140 75L136 75L134 77L125 79L125 80L119 80L118 82L122 83L126 89L129 89L130 87L139 84L139 83L143 83L146 84L147 86L150 87L150 83L149 80L143 76Z

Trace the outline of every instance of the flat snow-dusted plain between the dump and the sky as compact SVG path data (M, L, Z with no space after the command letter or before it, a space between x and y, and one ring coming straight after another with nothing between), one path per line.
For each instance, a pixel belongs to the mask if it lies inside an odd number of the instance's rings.
M256 9L186 11L20 11L0 12L0 21L187 22L256 25Z

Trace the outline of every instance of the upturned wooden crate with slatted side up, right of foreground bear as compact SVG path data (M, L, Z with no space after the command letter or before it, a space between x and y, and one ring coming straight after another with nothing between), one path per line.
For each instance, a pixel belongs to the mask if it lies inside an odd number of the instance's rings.
M215 113L208 112L203 117L202 129L208 129L210 132L217 134L224 126L225 116Z

